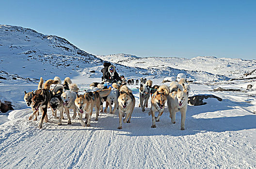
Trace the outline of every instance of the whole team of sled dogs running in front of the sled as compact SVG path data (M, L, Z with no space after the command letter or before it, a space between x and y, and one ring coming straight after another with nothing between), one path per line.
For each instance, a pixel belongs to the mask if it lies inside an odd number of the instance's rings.
M85 94L79 95L78 91L77 84L73 84L69 77L64 79L64 84L57 76L53 80L47 80L45 83L41 77L36 91L24 91L24 100L33 111L29 120L34 117L33 120L36 121L40 111L42 117L38 128L42 128L43 121L48 122L47 109L50 107L54 118L59 120L58 125L62 125L63 113L66 113L67 124L70 125L69 110L73 109L72 118L76 118L78 111L81 126L90 127L93 109L96 111L97 121L99 112L103 112L103 102L106 101L105 113L107 113L108 106L110 107L110 113L115 113L116 109L118 109L118 129L122 129L122 121L130 123L131 114L135 107L135 98L126 84L113 83L112 86L108 87L100 83L92 83ZM142 108L142 112L148 107L148 99L151 96L151 109L148 115L152 115L152 128L155 128L156 122L160 121L164 105L167 102L171 122L173 124L176 123L176 113L180 111L181 130L185 129L190 84L186 84L184 78L181 78L179 82L171 82L170 86L165 84L152 86L152 81L147 80L140 85L139 92L139 107ZM112 110L113 104L114 109ZM60 112L60 117L57 117L57 110ZM159 112L157 117L155 116L156 112ZM82 120L83 114L85 114L85 122ZM123 117L125 118L123 119Z

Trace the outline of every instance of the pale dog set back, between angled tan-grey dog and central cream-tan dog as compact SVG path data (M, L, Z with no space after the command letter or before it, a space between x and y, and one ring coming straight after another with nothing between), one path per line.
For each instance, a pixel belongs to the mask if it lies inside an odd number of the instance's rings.
M108 106L110 107L110 113L111 114L115 113L115 111L117 109L117 106L118 106L118 101L117 101L118 97L119 97L119 91L116 88L112 88L111 92L108 95L107 100L106 100L106 107L105 107L105 110L104 110L105 113L107 113ZM114 109L112 111L112 105L113 104L114 104Z

